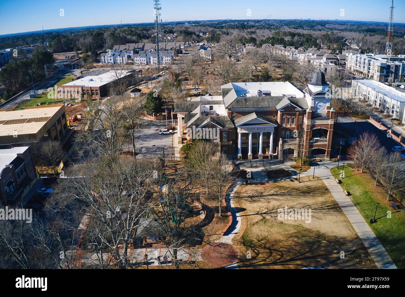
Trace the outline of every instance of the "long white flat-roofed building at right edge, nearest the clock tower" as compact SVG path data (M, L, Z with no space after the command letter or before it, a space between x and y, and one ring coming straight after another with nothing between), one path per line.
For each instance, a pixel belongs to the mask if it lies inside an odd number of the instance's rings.
M352 94L405 124L405 92L375 80L353 80Z

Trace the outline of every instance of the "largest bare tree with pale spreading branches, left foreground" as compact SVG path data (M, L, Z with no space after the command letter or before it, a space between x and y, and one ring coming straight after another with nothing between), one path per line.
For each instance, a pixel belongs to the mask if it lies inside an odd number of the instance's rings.
M155 172L153 160L120 160L113 168L103 163L87 166L85 178L69 179L64 192L70 200L80 200L89 220L81 246L97 255L100 268L130 267L128 248L141 218L149 209Z

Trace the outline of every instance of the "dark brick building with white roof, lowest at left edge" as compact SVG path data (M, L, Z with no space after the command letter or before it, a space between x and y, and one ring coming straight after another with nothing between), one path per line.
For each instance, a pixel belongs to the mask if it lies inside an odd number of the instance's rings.
M29 146L0 150L0 203L15 204L37 181Z

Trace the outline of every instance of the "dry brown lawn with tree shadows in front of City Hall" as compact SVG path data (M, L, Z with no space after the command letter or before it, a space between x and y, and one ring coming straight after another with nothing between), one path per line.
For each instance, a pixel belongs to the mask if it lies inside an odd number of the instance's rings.
M242 211L242 227L233 240L238 267L375 268L362 243L349 247L359 238L323 181L301 180L239 187L234 202ZM279 220L277 210L285 206L311 209L311 221Z

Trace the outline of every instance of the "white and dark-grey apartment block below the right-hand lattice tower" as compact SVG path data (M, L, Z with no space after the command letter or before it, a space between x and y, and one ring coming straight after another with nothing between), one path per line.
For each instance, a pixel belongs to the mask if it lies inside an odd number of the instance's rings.
M346 69L378 82L405 82L405 55L348 52Z

